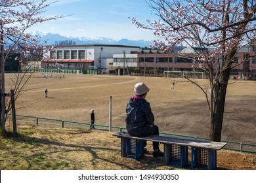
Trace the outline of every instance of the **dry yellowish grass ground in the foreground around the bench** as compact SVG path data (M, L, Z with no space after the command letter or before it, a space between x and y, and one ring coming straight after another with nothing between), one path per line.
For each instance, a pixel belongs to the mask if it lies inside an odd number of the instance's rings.
M18 137L0 137L0 169L173 169L146 154L140 161L120 157L120 139L108 131L19 125ZM152 145L148 142L148 150ZM256 156L221 150L220 169L255 169Z

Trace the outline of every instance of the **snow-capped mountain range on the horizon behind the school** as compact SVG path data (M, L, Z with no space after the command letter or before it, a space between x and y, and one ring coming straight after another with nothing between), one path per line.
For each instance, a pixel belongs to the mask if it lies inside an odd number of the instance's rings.
M118 44L118 45L126 45L126 46L140 46L145 47L152 44L153 41L146 40L129 40L129 39L121 39L116 41L114 39L110 39L108 37L66 37L59 34L53 33L39 33L33 32L32 35L39 35L42 37L41 41L47 41L47 45L54 45L59 41L74 41L75 44Z

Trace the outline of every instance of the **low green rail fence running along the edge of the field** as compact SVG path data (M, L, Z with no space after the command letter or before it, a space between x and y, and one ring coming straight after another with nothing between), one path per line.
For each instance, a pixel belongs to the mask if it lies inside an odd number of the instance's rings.
M25 122L30 123L32 125L40 125L45 127L62 127L62 128L76 128L76 129L90 129L91 124L89 123L81 123L81 122L71 122L66 120L55 120L55 119L49 119L49 118L39 118L35 116L24 116L24 115L16 115L17 124ZM115 127L112 126L111 129L109 129L109 125L99 125L94 124L96 129L104 130L104 131L125 131L124 127ZM198 140L204 140L207 141L208 139L202 138L202 137L194 137L194 136L188 136L188 135L178 135L173 133L161 133L161 135L165 136L175 136L182 139L198 139ZM234 150L239 152L249 152L249 153L256 153L256 144L247 144L243 142L232 142L232 141L221 141L226 142L226 146L224 146L224 149L226 150Z

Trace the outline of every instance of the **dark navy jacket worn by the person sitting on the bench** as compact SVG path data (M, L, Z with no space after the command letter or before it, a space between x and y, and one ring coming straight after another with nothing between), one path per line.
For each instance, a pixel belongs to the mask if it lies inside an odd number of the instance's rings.
M126 108L126 129L131 136L146 137L150 133L150 125L154 124L154 114L150 103L142 97L133 97Z

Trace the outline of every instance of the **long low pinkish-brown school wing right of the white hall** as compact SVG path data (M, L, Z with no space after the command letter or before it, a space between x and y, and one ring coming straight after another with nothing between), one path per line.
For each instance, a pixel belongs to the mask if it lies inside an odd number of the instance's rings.
M210 48L208 48L211 52ZM179 48L177 51L167 53L159 50L133 50L131 54L114 54L113 66L118 72L127 74L127 68L136 68L149 71L180 71L180 72L198 72L201 64L198 61L198 52L200 48ZM202 52L202 50L201 50ZM221 58L215 58L215 71L221 63ZM122 69L123 68L123 69ZM125 69L126 68L126 69ZM121 72L119 72L121 69ZM124 71L124 72L123 72ZM256 41L255 44L243 46L233 58L231 76L244 79L256 79Z

